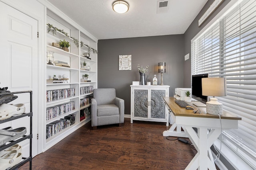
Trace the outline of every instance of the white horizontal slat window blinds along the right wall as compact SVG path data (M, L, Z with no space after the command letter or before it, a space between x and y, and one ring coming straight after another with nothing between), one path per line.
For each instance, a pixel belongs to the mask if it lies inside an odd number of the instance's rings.
M191 44L192 74L227 78L227 111L242 117L222 141L256 169L256 0L243 0Z

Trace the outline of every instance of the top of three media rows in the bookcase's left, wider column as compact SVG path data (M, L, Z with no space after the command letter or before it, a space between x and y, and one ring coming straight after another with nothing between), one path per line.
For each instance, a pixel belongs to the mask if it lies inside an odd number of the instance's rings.
M75 96L75 88L65 88L58 90L47 90L46 91L46 101L54 101L64 98L70 98Z

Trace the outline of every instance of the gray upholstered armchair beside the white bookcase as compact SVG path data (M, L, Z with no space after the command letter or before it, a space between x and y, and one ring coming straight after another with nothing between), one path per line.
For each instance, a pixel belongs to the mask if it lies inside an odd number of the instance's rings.
M124 100L116 97L114 88L93 90L92 129L100 125L124 123Z

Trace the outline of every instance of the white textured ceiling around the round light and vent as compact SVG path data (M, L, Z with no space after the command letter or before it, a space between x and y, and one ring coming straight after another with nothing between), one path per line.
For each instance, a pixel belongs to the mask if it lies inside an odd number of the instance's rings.
M156 14L158 0L126 0L128 12L112 10L115 0L48 0L97 39L183 34L207 0L168 0Z

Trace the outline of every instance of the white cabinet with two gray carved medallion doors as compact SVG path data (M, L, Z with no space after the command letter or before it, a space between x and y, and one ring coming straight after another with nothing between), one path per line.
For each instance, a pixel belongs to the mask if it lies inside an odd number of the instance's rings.
M162 97L169 96L170 86L131 85L131 123L133 120L166 122L169 114Z

